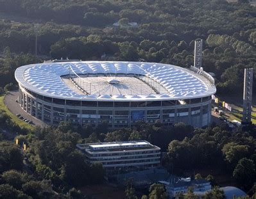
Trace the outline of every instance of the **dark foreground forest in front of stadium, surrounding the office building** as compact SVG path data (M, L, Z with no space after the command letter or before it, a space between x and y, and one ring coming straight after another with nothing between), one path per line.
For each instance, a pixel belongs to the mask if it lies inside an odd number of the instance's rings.
M76 149L76 144L141 139L161 147L165 154L162 164L170 173L188 176L191 175L188 171L205 170L209 173L197 176L210 180L212 186L221 186L220 177L225 176L229 183L253 195L256 132L252 127L230 132L226 125L194 129L184 123L173 127L138 123L133 129L110 131L105 123L93 129L90 125L74 127L62 122L58 127L27 131L13 127L4 113L0 114L0 122L6 131L19 132L15 137L19 139L18 145L6 141L1 134L0 190L3 195L0 191L0 198L10 195L17 198L85 197L86 193L82 195L78 190L103 183L105 172L101 163L85 163L85 156ZM22 150L23 144L27 146L26 151ZM126 191L130 195L133 189L129 187ZM153 194L150 189L149 192L149 196Z

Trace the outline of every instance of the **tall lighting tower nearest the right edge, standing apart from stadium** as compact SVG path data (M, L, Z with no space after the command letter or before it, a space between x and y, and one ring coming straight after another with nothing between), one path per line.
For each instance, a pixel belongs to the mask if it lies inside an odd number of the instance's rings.
M244 125L251 123L252 117L253 68L244 68L243 120Z

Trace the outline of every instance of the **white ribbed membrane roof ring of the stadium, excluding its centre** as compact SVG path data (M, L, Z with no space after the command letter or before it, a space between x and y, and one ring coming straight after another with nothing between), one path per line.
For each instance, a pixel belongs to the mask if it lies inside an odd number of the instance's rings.
M70 88L61 76L76 73L121 75L134 74L147 76L159 83L167 93L114 93L85 94ZM216 87L210 81L192 70L164 63L128 62L128 61L70 61L55 63L37 63L15 70L15 79L19 84L47 97L70 100L101 101L138 101L138 100L181 100L207 97L216 93ZM137 86L139 90L141 87Z

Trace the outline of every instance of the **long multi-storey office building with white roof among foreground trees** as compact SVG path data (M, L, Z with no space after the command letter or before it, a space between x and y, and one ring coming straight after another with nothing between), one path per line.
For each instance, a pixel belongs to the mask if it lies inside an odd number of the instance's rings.
M160 166L160 148L148 141L76 145L89 163L101 162L108 173L144 170Z

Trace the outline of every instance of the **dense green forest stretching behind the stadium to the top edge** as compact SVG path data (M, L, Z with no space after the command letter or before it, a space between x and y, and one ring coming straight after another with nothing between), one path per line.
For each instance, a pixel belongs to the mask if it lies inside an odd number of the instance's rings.
M256 8L246 1L0 1L0 86L15 68L40 60L155 61L193 64L203 39L203 67L219 94L241 90L243 68L255 68ZM8 20L8 16L17 20ZM119 22L119 27L113 26ZM130 26L128 22L137 22ZM256 81L255 81L256 83Z

